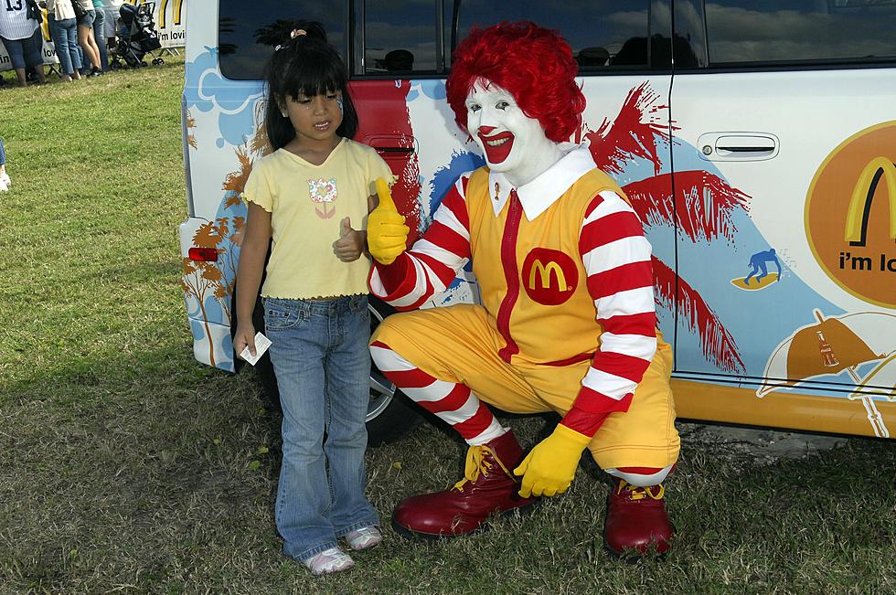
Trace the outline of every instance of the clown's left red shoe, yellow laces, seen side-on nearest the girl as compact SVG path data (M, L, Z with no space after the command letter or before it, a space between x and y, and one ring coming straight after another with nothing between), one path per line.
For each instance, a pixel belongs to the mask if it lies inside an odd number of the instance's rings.
M412 496L392 514L392 526L420 537L459 537L483 527L489 516L534 503L517 492L512 469L523 451L512 431L471 446L466 454L464 479L444 492Z

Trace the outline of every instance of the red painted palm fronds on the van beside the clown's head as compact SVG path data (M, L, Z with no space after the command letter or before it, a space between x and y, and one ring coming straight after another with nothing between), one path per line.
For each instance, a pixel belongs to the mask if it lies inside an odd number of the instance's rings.
M658 99L645 82L629 91L613 122L604 120L596 131L584 133L594 162L610 175L621 174L625 165L635 160L646 159L653 164L654 175L623 186L646 228L675 225L692 242L719 237L732 242L737 231L732 218L746 210L750 197L706 171L676 172L675 186L671 174L659 173L663 166L659 146L672 141L668 106L658 104ZM656 256L653 268L656 303L668 309L675 304L678 316L699 334L708 361L726 371L743 373L745 367L734 337L699 292Z

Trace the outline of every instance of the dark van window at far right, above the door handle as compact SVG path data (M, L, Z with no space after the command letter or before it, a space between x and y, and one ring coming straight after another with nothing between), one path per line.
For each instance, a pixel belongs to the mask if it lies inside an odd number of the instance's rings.
M896 0L712 0L709 65L896 58Z

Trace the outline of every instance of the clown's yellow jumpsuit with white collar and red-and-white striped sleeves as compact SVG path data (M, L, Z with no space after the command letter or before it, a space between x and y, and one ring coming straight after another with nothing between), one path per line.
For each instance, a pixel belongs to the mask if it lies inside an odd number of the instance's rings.
M611 473L667 471L678 453L672 356L656 330L651 258L635 212L587 147L518 189L480 168L458 180L411 250L375 266L370 286L414 309L472 260L482 305L389 316L371 352L470 444L504 431L481 398L515 413L557 411L593 436L588 448Z

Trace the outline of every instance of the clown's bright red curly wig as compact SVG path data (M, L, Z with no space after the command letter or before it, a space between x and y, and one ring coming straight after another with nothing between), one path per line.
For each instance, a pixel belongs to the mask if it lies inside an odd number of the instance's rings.
M560 33L528 21L504 21L474 27L457 46L445 92L454 122L466 131L466 96L476 80L490 80L513 94L549 140L562 143L581 126L585 109L585 96L575 80L578 72L572 49Z

